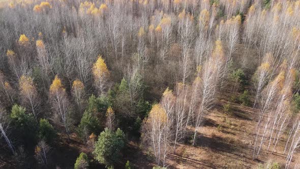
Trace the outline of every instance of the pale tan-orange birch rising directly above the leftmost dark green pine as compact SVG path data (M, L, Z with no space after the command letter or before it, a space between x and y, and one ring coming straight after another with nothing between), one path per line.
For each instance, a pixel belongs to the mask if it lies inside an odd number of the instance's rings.
M30 109L37 118L37 115L39 114L38 108L40 106L40 98L33 79L22 75L19 81L19 89L22 104L27 109Z

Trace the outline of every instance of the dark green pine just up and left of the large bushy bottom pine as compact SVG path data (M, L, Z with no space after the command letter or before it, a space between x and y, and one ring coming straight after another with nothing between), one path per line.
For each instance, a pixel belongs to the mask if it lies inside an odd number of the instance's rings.
M87 139L91 133L98 135L100 129L100 122L95 115L93 115L92 112L84 111L80 124L77 128L78 135L84 140Z

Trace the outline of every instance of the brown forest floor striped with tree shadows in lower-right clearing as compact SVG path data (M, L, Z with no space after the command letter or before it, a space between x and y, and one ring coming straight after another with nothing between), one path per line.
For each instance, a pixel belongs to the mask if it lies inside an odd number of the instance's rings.
M252 160L256 113L251 107L231 102L231 111L224 112L223 105L229 103L225 101L228 98L226 95L219 98L220 101L199 129L196 146L191 144L193 136L191 128L187 143L179 144L175 153L168 154L168 168L257 168L258 165L268 161L276 161L284 166L286 155L283 154L285 146L283 141L273 153L272 144L269 151L266 151L267 145L264 145L258 158ZM294 157L298 155L300 154L295 154ZM131 160L135 166L152 168L145 166L145 161L149 160L143 156L136 157ZM155 165L154 162L152 165Z

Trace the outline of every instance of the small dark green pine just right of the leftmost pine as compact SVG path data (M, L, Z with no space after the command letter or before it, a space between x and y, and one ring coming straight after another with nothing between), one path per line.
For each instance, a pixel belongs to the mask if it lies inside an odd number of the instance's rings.
M52 143L56 137L56 131L47 119L40 119L39 138L46 140L47 143Z

